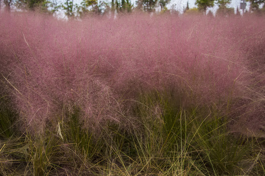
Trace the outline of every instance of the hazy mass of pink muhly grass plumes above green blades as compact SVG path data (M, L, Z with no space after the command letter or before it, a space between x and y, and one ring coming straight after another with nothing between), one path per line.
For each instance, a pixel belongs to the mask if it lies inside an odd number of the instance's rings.
M251 82L250 55L265 52L256 49L265 44L259 17L132 14L64 22L2 13L0 21L1 80L25 127L38 129L74 107L86 128L120 123L121 100L152 89L178 92L187 104L226 107Z

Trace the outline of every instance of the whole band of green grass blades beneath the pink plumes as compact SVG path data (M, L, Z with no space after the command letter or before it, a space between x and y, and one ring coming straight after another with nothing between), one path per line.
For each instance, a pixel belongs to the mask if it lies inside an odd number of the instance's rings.
M129 129L109 123L93 133L82 128L79 108L66 113L64 120L55 120L56 130L52 125L43 134L26 132L2 141L0 172L4 176L261 176L264 172L257 141L230 133L226 118L211 108L182 109L170 91L141 93L131 114L136 121Z

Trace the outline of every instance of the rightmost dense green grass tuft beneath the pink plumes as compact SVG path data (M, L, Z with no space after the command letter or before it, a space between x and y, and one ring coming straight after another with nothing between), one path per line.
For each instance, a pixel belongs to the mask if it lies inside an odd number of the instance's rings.
M194 141L200 157L213 172L232 174L248 151L243 139L228 133L227 121L223 118L214 116L210 120L194 122Z

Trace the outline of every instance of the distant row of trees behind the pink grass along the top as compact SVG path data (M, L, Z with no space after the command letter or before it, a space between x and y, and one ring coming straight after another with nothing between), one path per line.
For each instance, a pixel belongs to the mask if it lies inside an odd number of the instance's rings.
M246 13L265 14L265 0L246 0L250 2ZM132 13L134 11L174 13L178 14L175 5L168 8L170 0L136 0L133 4L131 0L82 0L74 3L74 0L0 0L0 9L41 11L49 14L57 12L64 13L68 18L81 18L86 15L106 15L116 13ZM189 8L188 2L183 10L186 14L204 14L209 7L218 5L216 15L235 15L235 9L227 7L231 0L196 0L197 8ZM238 4L239 5L239 4ZM240 15L237 8L236 14ZM212 15L210 11L208 15Z

